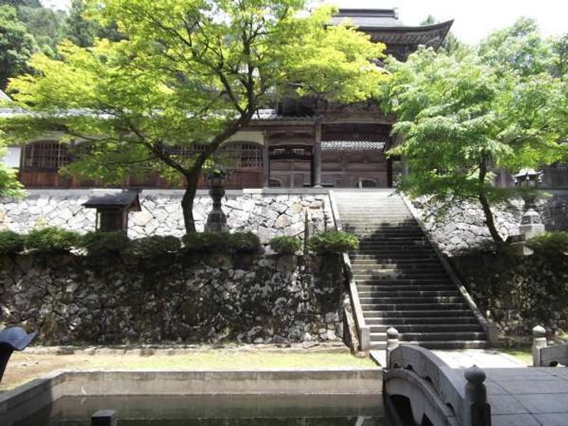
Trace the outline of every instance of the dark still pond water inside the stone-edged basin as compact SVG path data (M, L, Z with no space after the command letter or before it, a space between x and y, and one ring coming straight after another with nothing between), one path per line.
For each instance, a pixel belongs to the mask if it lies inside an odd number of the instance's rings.
M61 398L14 426L89 426L116 410L118 426L388 426L381 395Z

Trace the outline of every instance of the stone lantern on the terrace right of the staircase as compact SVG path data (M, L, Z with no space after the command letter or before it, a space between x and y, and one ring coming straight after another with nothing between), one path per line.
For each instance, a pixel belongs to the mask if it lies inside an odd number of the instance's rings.
M532 168L525 168L513 175L515 185L529 191L524 192L522 197L525 202L525 213L520 219L520 234L525 236L525 240L540 235L545 231L545 225L540 219L540 214L536 211L536 194L538 184L542 182L542 172L537 172Z

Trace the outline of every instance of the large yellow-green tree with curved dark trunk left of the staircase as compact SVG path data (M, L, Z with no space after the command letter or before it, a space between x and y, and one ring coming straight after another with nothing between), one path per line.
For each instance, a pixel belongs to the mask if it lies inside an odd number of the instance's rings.
M2 126L13 141L48 130L80 138L83 153L70 173L117 182L155 170L185 182L188 232L202 168L259 108L290 94L360 101L386 78L371 62L383 45L354 28L327 26L332 9L301 15L302 0L89 5L126 39L99 39L92 48L64 42L62 60L34 55L36 75L14 79L10 89L38 114Z

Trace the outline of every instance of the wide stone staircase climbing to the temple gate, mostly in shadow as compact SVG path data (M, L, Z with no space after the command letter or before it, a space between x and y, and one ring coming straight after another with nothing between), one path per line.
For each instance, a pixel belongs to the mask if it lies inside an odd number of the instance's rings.
M447 275L402 198L392 191L335 192L343 229L359 236L349 253L371 349L386 329L429 349L488 347L486 334Z

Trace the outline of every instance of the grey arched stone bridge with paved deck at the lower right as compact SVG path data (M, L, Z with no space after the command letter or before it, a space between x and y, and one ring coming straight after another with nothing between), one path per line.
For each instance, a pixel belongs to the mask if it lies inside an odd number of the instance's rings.
M533 353L545 359L537 344ZM395 425L568 425L568 368L452 368L428 349L399 344L392 328L386 355L383 391Z

